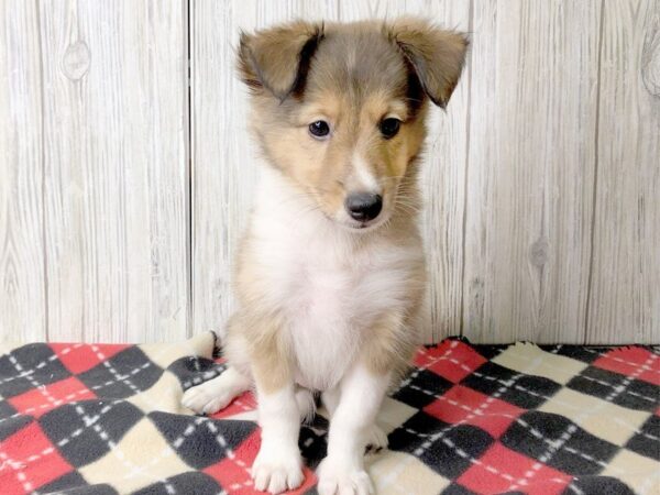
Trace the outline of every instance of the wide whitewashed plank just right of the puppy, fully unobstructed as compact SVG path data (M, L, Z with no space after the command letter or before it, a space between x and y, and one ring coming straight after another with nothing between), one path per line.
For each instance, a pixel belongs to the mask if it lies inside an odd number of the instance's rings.
M600 7L474 2L463 280L474 341L584 341Z

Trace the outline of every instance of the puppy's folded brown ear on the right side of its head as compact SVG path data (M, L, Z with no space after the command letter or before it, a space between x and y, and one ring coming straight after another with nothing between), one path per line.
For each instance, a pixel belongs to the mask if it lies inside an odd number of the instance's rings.
M406 18L389 26L389 36L411 65L427 96L446 108L465 63L468 37L422 19Z

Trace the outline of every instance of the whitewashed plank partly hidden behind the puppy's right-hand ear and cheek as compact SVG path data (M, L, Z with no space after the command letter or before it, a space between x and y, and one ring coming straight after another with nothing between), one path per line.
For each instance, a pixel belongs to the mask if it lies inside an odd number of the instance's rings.
M446 29L471 30L470 1L388 0L340 2L340 20L425 16ZM427 251L429 298L425 342L461 333L463 297L463 218L468 164L468 101L471 63L446 111L433 106L429 113L426 153L420 162L425 198L421 230Z

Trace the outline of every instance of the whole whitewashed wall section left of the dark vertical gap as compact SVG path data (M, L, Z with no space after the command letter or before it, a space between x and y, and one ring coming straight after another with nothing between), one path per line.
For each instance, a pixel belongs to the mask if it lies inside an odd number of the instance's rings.
M185 338L187 6L0 6L0 337Z

